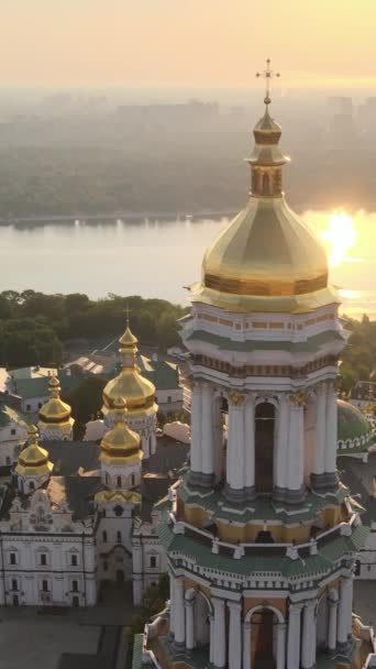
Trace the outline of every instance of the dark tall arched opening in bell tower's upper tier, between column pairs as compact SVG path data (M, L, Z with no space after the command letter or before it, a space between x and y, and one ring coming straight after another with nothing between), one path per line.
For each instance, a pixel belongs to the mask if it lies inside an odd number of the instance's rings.
M255 484L263 493L273 492L275 408L263 402L255 410Z

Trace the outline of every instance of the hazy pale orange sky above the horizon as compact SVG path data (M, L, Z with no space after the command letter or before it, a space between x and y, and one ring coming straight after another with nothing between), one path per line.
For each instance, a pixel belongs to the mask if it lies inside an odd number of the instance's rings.
M375 24L376 0L0 0L0 85L254 86L267 56L368 85Z

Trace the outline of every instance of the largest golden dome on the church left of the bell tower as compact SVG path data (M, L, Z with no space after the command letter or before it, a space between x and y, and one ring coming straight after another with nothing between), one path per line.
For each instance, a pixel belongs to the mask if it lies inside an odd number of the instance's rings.
M132 334L129 327L119 340L120 354L122 358L122 371L110 381L103 390L106 414L114 408L119 397L123 397L130 413L147 413L156 410L155 386L151 381L144 379L140 373L135 358L137 353L137 339Z

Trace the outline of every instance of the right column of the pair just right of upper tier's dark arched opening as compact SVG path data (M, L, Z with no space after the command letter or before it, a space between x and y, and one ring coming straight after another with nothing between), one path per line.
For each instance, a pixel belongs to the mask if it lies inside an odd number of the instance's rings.
M290 406L288 490L299 491L303 483L305 432L303 405Z

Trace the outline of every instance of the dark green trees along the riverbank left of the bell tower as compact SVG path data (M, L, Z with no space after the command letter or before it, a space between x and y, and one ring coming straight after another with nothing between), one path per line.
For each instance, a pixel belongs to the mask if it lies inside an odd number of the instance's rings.
M0 294L0 364L10 368L59 364L63 342L119 336L125 309L143 344L167 349L178 343L177 320L186 312L164 299L137 295L109 295L92 300L87 295L44 295L35 290Z

